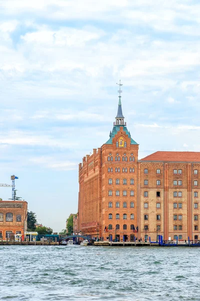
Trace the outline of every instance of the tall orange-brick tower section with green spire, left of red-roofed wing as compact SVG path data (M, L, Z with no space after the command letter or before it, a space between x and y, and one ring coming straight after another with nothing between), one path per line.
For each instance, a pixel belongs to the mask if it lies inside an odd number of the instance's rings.
M118 110L109 139L79 164L78 228L104 239L133 240L137 228L138 144Z

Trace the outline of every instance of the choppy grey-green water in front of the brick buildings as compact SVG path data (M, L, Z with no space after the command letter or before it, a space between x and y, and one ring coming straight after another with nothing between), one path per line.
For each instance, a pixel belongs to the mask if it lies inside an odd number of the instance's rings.
M200 248L0 246L0 300L199 300Z

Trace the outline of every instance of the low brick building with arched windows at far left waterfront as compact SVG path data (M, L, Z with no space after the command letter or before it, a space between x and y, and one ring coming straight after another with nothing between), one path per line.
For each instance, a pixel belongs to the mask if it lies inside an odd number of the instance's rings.
M27 231L27 202L0 201L0 238Z

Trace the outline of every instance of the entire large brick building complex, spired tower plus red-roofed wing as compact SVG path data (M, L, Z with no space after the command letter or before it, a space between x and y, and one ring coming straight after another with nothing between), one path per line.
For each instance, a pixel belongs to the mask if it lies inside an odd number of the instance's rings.
M138 160L121 109L109 139L79 164L78 229L104 239L199 239L200 153Z

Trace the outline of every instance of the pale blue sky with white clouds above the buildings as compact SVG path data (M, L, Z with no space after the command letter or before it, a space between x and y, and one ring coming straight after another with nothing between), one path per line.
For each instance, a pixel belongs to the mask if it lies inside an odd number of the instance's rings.
M0 0L0 183L60 231L77 212L78 163L122 111L139 159L200 151L200 4ZM11 189L0 187L3 200Z

